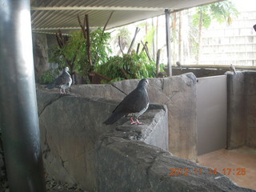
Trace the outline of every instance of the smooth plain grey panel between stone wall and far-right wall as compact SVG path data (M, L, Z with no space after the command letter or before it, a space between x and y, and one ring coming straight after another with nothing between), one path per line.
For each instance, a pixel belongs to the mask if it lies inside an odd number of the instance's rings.
M198 155L226 148L226 75L198 78Z

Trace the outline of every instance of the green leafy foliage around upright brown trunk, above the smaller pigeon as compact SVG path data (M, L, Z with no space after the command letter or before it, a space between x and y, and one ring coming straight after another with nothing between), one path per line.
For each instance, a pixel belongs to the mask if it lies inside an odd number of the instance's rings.
M90 33L90 50L93 66L98 66L107 61L111 52L108 40L110 33L103 32L101 28ZM50 62L58 63L58 68L69 66L71 73L76 70L83 76L88 76L90 63L87 54L87 42L83 38L82 31L76 31L70 35L66 45L60 48L53 46L50 49Z

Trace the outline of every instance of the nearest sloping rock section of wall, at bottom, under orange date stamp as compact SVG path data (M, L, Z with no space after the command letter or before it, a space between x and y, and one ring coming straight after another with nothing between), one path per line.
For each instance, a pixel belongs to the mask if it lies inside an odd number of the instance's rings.
M101 192L254 191L236 186L223 174L213 174L210 168L144 142L127 140L122 134L103 135L97 146L96 169Z

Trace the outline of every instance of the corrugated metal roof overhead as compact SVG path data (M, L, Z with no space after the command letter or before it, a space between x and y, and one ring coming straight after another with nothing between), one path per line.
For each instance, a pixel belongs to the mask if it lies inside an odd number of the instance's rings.
M77 15L89 15L90 27L104 26L112 11L107 28L123 26L164 14L165 9L182 10L214 0L31 0L31 22L34 32L67 33L78 30Z

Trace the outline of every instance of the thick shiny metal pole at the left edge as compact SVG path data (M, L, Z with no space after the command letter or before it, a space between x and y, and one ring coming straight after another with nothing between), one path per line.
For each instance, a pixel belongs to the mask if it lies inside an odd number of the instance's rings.
M2 0L0 18L0 126L10 191L44 192L30 0Z

